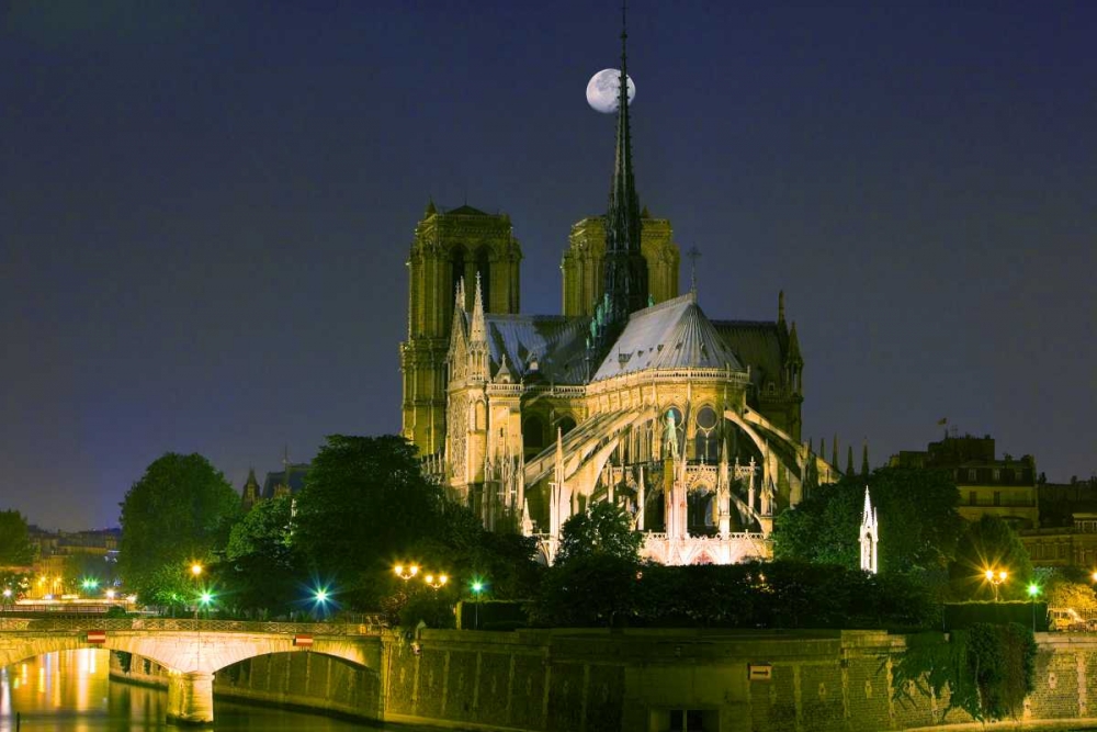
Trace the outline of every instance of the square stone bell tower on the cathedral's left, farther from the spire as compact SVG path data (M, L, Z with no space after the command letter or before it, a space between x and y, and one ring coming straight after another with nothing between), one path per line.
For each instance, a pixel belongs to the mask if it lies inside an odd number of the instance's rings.
M445 443L445 356L459 284L468 285L462 289L467 309L478 278L485 311L518 313L521 260L507 214L427 205L407 260L408 336L400 344L400 433L420 454L439 453Z

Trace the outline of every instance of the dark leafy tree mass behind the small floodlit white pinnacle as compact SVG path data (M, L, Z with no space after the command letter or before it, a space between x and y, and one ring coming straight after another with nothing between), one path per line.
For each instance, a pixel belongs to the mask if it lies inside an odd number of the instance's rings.
M866 487L880 517L881 571L943 571L964 527L959 493L948 472L913 468L880 468L868 478L819 486L778 517L776 558L856 568Z

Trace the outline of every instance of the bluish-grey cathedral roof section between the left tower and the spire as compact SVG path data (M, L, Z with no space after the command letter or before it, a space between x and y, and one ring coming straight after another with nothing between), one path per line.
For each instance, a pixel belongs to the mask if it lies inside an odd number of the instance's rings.
M551 315L485 316L491 372L504 354L516 379L581 384L589 318Z

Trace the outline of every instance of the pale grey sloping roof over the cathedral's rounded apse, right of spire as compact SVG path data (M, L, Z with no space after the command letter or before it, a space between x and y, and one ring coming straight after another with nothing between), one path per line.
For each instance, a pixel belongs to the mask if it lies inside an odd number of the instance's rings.
M592 381L647 369L725 368L744 370L690 292L630 315Z

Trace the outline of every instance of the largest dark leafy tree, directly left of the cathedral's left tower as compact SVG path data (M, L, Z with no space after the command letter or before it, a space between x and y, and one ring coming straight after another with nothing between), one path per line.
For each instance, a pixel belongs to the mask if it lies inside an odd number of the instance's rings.
M298 497L296 541L341 597L376 608L394 561L442 528L440 486L420 470L403 437L328 437Z

